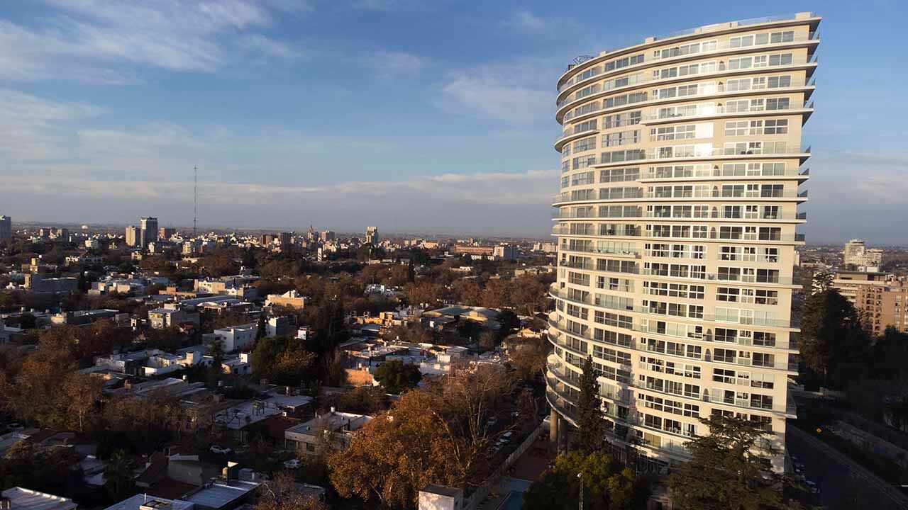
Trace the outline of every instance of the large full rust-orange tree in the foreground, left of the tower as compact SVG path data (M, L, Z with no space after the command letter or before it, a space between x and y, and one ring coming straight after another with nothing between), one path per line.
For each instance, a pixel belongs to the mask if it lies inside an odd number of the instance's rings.
M338 494L412 507L425 485L460 485L466 476L456 455L462 440L449 432L439 407L437 395L411 391L360 428L347 449L328 457Z

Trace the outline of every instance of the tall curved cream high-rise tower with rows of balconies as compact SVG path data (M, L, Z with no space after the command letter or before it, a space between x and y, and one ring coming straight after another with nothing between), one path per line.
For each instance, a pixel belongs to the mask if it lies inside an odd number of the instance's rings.
M578 57L558 79L556 438L575 423L591 356L616 452L636 444L665 471L713 413L750 419L784 452L819 23L799 13L649 37Z

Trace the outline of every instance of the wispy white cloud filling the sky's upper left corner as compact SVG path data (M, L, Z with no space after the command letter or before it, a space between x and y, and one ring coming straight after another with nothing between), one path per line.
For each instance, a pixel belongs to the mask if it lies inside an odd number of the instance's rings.
M40 25L0 21L0 79L128 83L136 79L134 65L212 72L229 61L226 44L237 34L244 47L266 56L292 54L254 32L273 23L273 9L294 8L284 0L47 2L56 11Z

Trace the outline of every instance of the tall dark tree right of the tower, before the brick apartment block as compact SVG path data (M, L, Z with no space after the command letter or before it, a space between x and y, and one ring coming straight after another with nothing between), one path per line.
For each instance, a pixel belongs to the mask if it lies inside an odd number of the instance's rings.
M867 345L854 305L837 289L817 292L804 301L798 347L804 365L823 375L825 385L841 386L847 365Z

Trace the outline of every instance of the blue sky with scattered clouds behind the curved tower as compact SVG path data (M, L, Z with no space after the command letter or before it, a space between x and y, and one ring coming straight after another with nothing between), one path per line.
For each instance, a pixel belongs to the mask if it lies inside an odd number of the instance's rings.
M908 6L696 5L7 2L0 213L190 225L198 165L200 225L543 236L572 58L822 9L803 231L908 243Z

